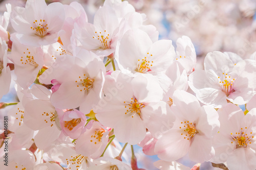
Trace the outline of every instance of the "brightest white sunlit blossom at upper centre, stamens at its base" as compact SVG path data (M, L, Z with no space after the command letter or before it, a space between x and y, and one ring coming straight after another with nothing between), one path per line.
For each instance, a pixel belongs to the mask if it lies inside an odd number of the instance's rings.
M133 29L123 35L115 57L120 69L144 74L166 70L175 57L175 51L171 40L153 43L145 32Z

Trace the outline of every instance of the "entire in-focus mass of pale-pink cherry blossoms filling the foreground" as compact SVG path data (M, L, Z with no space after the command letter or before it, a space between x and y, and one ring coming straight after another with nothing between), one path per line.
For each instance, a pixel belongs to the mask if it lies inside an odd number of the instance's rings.
M105 0L93 22L77 2L6 8L0 98L15 79L19 102L0 105L15 105L0 169L134 170L136 144L159 169L256 169L256 52L209 52L196 69L189 37L159 39L127 1Z

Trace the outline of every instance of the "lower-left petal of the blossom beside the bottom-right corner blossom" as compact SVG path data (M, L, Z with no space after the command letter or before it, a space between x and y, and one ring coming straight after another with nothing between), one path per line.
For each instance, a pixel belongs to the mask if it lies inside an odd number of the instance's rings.
M155 144L155 153L165 161L182 158L189 151L190 141L184 139L179 131L169 130Z

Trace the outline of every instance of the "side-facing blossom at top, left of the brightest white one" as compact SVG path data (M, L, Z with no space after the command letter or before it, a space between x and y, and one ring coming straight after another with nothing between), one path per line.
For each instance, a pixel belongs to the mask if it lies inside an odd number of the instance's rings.
M119 29L118 18L110 6L97 10L94 23L75 23L76 38L86 50L99 56L109 56L115 51L115 35ZM88 43L90 42L90 43Z

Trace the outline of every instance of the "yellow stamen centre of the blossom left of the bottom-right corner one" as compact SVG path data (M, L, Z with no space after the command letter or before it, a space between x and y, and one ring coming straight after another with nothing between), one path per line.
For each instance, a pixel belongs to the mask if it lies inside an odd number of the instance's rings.
M182 129L181 135L185 135L184 139L192 139L197 133L196 125L193 123L189 123L188 121L185 121L184 123L181 122L182 126L180 129Z

